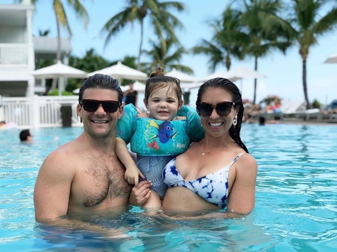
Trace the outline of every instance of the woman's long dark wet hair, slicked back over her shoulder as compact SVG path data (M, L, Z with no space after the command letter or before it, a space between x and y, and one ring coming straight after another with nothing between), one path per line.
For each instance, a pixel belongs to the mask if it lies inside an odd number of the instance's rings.
M196 98L196 104L201 102L201 97L205 93L205 91L208 88L221 88L232 96L232 102L235 103L235 108L238 109L238 123L234 127L232 126L229 129L229 135L233 138L233 140L241 146L242 149L244 149L245 152L248 153L246 145L241 141L240 138L240 130L241 130L241 124L242 124L242 117L243 117L243 103L241 98L241 92L239 88L230 80L227 80L225 78L214 78L206 81L198 90L198 95Z

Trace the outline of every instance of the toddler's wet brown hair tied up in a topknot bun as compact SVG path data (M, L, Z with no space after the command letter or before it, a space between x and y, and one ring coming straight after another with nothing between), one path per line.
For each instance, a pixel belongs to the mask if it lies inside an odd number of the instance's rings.
M166 86L170 86L170 89L173 88L177 94L178 101L182 100L181 98L181 87L180 80L171 76L164 75L164 69L162 67L157 67L151 74L150 78L147 79L145 85L145 99L148 101L151 94L162 89ZM170 90L169 89L169 90Z

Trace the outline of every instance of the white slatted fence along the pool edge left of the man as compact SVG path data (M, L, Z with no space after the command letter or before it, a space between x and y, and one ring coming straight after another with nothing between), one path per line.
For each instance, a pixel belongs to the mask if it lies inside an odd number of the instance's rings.
M82 124L76 113L77 104L78 96L35 95L33 97L0 98L4 121L15 123L18 128L61 127L62 106L71 106L71 125L80 126Z

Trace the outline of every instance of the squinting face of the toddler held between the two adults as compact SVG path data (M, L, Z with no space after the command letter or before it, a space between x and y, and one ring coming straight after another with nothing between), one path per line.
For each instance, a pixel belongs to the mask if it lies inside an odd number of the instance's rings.
M174 88L170 86L155 91L147 101L144 99L144 103L152 118L163 121L172 121L182 105Z

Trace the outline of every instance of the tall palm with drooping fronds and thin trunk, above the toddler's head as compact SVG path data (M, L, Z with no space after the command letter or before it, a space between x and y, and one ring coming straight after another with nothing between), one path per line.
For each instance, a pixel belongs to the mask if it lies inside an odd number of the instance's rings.
M105 46L109 43L111 37L119 32L126 24L133 24L134 20L138 20L141 24L141 42L137 58L137 69L140 70L140 57L142 53L145 18L147 16L150 17L155 33L160 37L163 47L166 47L164 33L167 33L172 36L173 39L176 39L174 28L183 27L177 17L167 10L169 8L182 11L184 10L184 5L173 1L159 2L158 0L127 0L127 7L110 18L101 30L101 33L108 32L105 39Z

